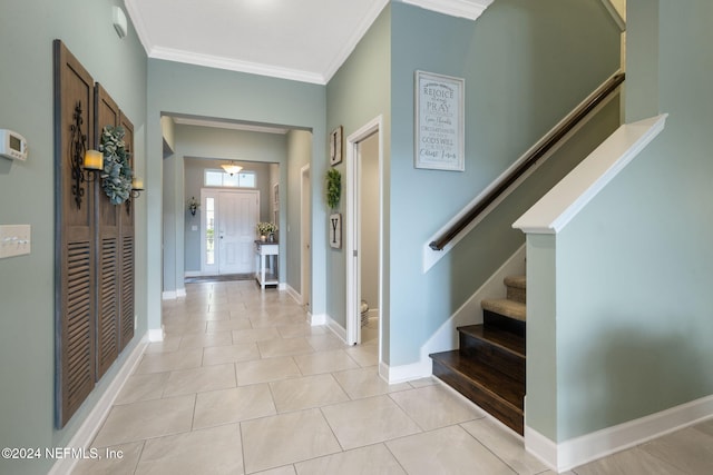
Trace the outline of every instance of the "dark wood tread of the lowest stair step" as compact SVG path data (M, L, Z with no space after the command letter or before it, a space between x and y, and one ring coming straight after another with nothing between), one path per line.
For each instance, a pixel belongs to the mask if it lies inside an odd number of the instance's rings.
M500 373L491 366L468 358L458 350L434 353L430 356L433 362L466 377L494 398L502 400L511 409L522 413L525 385L521 382ZM466 394L466 397L469 396ZM470 399L473 400L472 398Z

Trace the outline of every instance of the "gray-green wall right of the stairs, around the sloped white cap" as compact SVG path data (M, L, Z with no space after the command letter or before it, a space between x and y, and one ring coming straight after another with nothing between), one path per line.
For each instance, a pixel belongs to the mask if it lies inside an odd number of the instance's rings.
M545 315L527 425L557 443L713 394L713 3L628 0L627 18L626 117L666 127L557 236L528 237Z

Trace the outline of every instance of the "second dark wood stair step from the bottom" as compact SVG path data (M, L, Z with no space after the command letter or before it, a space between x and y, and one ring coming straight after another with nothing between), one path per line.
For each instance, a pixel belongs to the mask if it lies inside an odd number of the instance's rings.
M519 380L525 392L524 335L491 325L459 327L458 335L461 354Z

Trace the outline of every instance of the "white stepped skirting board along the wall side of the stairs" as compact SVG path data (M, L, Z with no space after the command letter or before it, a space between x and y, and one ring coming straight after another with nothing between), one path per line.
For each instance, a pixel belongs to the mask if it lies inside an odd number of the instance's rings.
M498 270L458 308L431 337L421 346L421 360L430 360L431 353L449 352L458 348L458 328L462 325L482 323L480 301L484 298L505 298L507 288L502 280L507 276L525 275L525 249L522 245Z

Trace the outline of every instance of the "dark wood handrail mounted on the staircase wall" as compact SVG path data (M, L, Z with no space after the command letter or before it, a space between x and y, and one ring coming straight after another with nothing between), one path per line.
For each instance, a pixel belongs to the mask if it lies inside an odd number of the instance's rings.
M535 150L533 150L510 174L502 178L482 199L478 200L462 218L453 224L446 232L431 241L429 247L433 250L443 250L443 248L456 236L462 232L478 216L480 216L490 205L496 202L508 188L512 186L520 177L522 177L530 168L547 155L567 133L569 133L577 125L597 106L613 93L624 82L625 75L617 73L607 82L602 85L599 89L592 95L588 101L579 106L574 115L561 123L557 129L553 130L549 137Z

